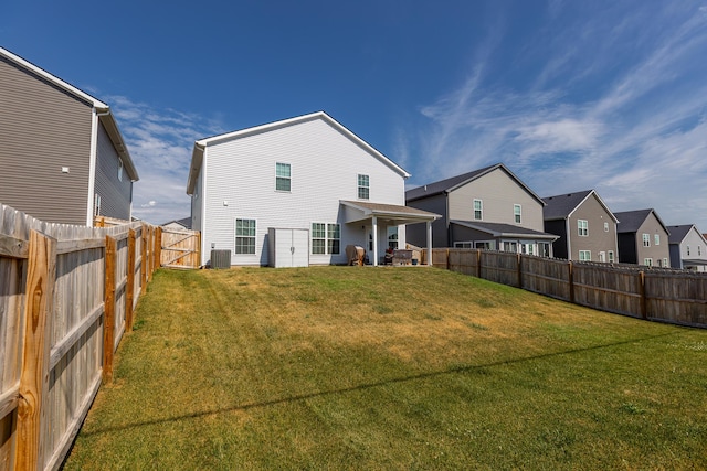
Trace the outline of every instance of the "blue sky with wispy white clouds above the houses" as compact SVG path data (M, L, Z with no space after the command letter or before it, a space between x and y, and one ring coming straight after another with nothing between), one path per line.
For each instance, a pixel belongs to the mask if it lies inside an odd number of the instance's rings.
M3 3L3 47L112 106L152 223L194 140L325 110L410 188L504 162L707 232L707 0Z

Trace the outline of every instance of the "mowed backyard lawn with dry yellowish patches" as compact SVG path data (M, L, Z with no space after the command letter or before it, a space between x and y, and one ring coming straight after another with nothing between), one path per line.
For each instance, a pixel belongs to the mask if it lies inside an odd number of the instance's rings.
M440 269L156 274L73 469L707 469L707 331Z

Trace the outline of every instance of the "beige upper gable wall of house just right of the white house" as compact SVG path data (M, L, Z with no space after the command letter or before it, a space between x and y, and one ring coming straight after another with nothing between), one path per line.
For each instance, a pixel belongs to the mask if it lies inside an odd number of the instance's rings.
M542 204L502 169L496 169L450 192L450 220L475 221L474 200L483 202L483 220L513 224L542 232ZM516 224L514 205L521 206L521 222Z

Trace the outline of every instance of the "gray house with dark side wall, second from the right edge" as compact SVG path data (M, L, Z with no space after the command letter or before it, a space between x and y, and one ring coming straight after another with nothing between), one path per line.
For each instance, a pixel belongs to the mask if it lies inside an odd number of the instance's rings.
M619 220L619 261L669 267L669 231L654 210L614 213Z

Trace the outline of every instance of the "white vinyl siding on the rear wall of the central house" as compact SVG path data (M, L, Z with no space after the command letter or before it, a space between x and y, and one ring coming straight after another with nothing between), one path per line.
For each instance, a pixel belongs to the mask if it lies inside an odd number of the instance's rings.
M234 165L233 156L238 156ZM276 162L292 170L292 192L273 191ZM376 203L404 205L404 179L323 119L211 144L204 152L202 238L204 247L233 247L235 217L257 218L255 254L233 258L232 265L267 265L270 227L310 228L313 222L339 223L338 255L312 255L312 265L345 264L344 247L365 244L360 224L342 224L339 201L356 201L357 178L370 176ZM233 202L223 206L223 201ZM383 229L384 231L384 229ZM384 237L379 236L379 240ZM312 237L312 234L310 234ZM401 231L401 240L404 232ZM383 244L379 244L384 249ZM209 250L204 250L208 259ZM204 261L205 263L205 261Z

